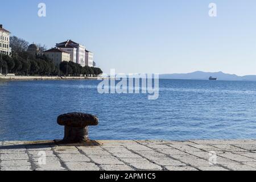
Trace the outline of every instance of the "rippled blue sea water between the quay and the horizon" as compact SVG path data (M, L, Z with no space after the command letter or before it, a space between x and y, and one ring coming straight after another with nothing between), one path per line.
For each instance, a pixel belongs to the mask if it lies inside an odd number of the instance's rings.
M0 140L61 139L58 115L98 116L91 139L256 138L256 82L159 80L146 94L99 94L97 80L0 81Z

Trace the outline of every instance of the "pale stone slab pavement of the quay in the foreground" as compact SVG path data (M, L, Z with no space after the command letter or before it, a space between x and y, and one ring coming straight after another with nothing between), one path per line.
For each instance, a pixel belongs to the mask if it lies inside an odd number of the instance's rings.
M0 142L1 171L256 170L256 140Z

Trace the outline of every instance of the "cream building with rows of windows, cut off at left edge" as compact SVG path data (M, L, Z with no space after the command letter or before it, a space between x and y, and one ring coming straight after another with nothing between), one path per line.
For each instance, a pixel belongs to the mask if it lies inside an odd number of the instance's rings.
M11 48L10 48L10 34L8 30L3 28L3 25L0 24L0 53L10 55Z

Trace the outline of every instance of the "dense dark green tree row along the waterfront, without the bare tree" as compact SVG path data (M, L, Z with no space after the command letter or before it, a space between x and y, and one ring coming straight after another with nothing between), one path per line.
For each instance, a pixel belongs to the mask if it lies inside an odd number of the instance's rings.
M63 61L59 66L55 65L52 60L45 56L33 57L26 53L21 53L10 57L2 55L0 59L0 68L2 73L15 73L16 75L68 75L70 76L96 76L102 73L100 68L82 67L80 64L72 61ZM68 68L68 69L67 69Z

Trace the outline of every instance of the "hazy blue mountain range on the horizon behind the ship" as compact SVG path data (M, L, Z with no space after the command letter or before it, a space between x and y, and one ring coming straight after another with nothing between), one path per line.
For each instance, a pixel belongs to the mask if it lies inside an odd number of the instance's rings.
M256 81L256 75L237 76L223 72L193 72L193 73L175 73L159 75L162 79L185 79L185 80L208 80L209 77L216 77L218 80L233 81Z

